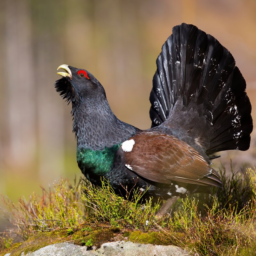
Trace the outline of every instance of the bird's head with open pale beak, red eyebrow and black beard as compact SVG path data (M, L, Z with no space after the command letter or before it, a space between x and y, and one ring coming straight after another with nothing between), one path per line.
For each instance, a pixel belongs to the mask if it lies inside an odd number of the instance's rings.
M106 97L105 90L100 82L87 70L74 68L66 64L60 65L57 70L60 68L66 72L57 73L63 77L56 81L55 88L68 103Z

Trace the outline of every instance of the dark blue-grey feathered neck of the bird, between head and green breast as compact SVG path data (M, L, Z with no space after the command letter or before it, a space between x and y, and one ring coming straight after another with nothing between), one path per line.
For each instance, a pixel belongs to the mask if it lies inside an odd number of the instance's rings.
M122 143L138 130L120 121L112 112L107 99L76 100L72 102L73 132L77 148L103 150Z

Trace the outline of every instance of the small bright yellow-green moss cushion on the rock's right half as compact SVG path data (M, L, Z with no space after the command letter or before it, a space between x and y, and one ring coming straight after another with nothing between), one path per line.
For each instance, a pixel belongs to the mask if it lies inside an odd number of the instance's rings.
M141 244L170 244L170 241L160 232L142 233L141 231L133 231L129 237L129 241Z

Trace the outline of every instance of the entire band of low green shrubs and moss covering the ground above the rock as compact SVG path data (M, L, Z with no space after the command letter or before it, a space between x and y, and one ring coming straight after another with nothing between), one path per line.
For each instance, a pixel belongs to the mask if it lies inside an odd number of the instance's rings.
M157 218L160 202L140 205L138 190L132 200L117 196L106 180L102 187L85 181L61 180L42 196L13 204L3 197L8 220L14 228L0 237L0 255L35 251L63 241L99 247L117 239L178 245L194 255L256 255L255 168L231 176L220 171L224 186L212 195L194 194L181 199L172 212ZM16 244L17 237L22 243Z

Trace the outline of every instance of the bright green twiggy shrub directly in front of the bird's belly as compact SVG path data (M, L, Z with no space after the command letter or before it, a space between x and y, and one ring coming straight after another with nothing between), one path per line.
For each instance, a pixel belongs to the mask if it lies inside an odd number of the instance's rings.
M101 188L86 182L81 185L82 200L91 207L97 221L108 222L116 227L140 228L147 231L157 221L155 213L160 202L152 205L152 198L150 198L140 205L139 202L146 191L141 192L139 189L127 191L127 198L130 197L129 193L132 193L130 201L117 196L106 180L102 180Z

